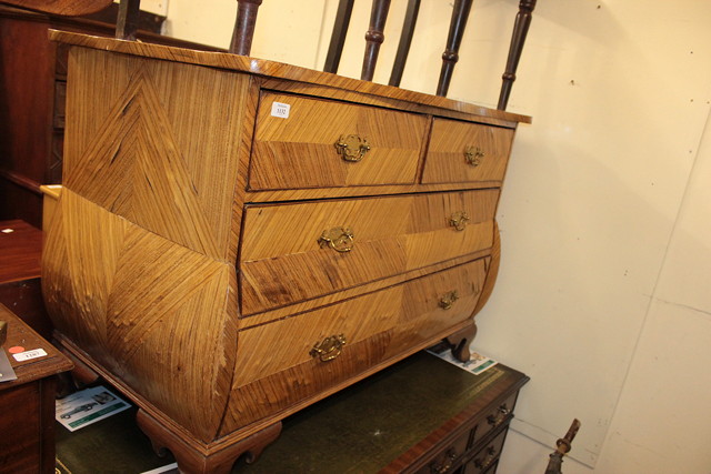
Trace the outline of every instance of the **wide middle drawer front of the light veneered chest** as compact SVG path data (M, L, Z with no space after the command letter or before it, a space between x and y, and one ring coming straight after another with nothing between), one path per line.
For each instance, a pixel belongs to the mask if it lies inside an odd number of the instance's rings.
M248 206L242 314L490 249L498 198L484 190ZM469 218L461 230L450 222L458 212Z

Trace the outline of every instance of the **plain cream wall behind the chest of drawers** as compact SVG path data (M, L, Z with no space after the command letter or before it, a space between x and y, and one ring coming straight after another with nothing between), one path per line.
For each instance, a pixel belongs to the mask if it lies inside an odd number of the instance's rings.
M264 0L253 56L320 68L336 4ZM369 4L356 2L342 74L360 73ZM495 103L517 9L474 2L450 97ZM227 47L234 10L170 0L168 31ZM450 14L422 0L404 88L434 91ZM533 124L517 134L474 343L532 377L501 473L542 472L573 417L567 473L711 472L710 18L705 0L539 2L509 107Z

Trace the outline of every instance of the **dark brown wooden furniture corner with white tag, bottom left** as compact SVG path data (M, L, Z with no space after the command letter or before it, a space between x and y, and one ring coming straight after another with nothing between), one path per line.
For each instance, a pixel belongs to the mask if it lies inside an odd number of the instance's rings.
M2 350L18 379L0 382L0 472L54 472L54 375L69 371L71 362L0 304L0 321L8 323ZM42 349L46 356L16 361L9 347Z

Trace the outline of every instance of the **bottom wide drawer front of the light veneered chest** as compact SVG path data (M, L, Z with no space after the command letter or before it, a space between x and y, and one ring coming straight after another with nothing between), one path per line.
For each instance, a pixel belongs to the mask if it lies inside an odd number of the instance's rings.
M487 260L243 330L227 424L254 422L434 342L471 316ZM458 299L444 309L452 291ZM328 344L341 335L343 345Z

